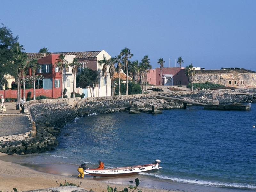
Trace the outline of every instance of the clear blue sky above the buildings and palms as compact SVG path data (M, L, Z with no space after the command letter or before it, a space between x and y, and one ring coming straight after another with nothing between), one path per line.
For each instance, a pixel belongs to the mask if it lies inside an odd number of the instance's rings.
M205 69L256 71L255 0L1 1L0 23L26 52L100 51L128 47L152 68L190 63ZM178 66L178 64L176 64Z

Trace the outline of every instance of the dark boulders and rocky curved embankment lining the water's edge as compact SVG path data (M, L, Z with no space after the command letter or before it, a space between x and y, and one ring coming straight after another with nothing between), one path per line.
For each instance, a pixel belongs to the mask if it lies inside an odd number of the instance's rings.
M211 102L212 104L256 102L256 94L248 96L224 93L221 97L215 97L214 99L208 99L207 96L184 96L186 99L204 103ZM116 108L109 108L108 110L99 107L99 109L93 111L75 108L68 105L67 102L33 105L30 107L30 113L36 126L35 137L31 137L31 133L26 133L25 136L22 135L20 137L15 135L8 136L5 140L1 140L0 152L10 154L32 154L55 150L58 145L57 136L61 134L61 129L67 123L73 122L76 117L87 116L90 113L116 113L124 111L130 111L131 113L152 113L152 106L157 110L183 108L182 104L163 99L153 99L152 97L145 99L138 98L129 102L130 104L128 107L117 106Z

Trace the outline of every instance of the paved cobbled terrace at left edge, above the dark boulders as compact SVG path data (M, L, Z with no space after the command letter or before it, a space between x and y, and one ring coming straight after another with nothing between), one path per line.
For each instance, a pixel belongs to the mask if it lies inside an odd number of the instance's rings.
M4 103L6 112L0 112L0 136L19 135L31 131L30 119L16 110L16 103Z

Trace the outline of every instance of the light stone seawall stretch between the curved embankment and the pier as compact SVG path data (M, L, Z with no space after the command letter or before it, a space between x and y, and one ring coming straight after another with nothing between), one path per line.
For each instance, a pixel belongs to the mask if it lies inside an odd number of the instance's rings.
M85 98L77 103L79 112L86 113L111 113L124 111L131 107L132 102L138 99L156 99L153 94L121 95L110 97Z

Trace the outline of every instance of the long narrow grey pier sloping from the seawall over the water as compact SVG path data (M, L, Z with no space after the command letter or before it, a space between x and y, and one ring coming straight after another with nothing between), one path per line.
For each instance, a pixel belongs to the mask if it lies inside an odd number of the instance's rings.
M251 110L250 105L207 105L205 103L199 103L191 100L174 98L174 97L166 97L161 95L156 95L157 99L164 99L164 100L172 100L179 104L183 104L183 108L186 109L187 104L202 106L204 109L211 109L211 110L236 110L236 111L249 111Z

